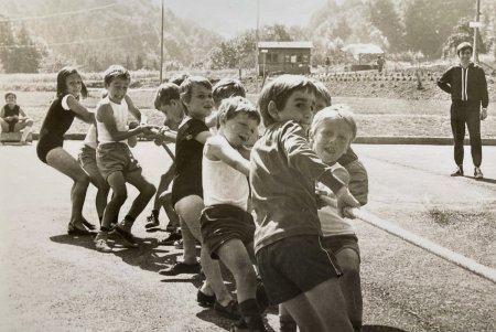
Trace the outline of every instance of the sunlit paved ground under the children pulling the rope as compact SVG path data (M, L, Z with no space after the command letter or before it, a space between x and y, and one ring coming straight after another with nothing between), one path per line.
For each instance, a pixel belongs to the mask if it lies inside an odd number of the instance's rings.
M66 148L76 153L79 144L68 141ZM495 147L484 149L485 181L450 178L451 147L355 149L369 172L368 211L496 268ZM170 162L165 152L149 142L134 151L144 173L158 181ZM104 255L89 238L66 235L71 181L42 164L34 146L0 147L0 331L228 328L229 321L196 306L200 280L157 274L180 251L158 246L166 233L145 233L144 216L134 226L140 249ZM85 215L93 219L94 197L90 188ZM496 330L494 283L366 223L357 226L365 331ZM274 310L268 322L277 330Z

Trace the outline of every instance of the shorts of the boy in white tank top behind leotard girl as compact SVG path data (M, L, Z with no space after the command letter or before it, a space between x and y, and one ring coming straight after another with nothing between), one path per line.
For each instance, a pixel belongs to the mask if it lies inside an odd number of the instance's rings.
M97 165L105 180L114 172L128 174L141 171L141 167L132 156L128 144L120 142L98 146Z

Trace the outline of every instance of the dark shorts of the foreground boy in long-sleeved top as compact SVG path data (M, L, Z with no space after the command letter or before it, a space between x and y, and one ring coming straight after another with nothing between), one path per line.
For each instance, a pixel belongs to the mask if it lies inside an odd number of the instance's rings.
M271 304L280 304L342 275L333 253L316 235L287 237L257 251L257 265Z

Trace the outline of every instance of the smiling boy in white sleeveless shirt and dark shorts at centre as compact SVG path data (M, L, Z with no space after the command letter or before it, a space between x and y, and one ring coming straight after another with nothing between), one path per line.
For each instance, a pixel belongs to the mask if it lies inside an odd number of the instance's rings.
M200 219L203 245L220 259L236 280L242 319L233 328L266 331L256 299L255 222L247 211L249 161L240 154L260 124L260 115L242 97L224 99L218 109L218 132L203 150L202 179L205 208Z

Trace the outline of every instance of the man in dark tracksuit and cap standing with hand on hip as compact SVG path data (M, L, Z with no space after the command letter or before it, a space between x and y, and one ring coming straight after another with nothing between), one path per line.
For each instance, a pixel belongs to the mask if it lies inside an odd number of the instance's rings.
M470 43L461 43L456 47L460 64L449 68L438 81L438 86L451 94L452 100L450 113L456 170L451 175L463 175L463 140L466 124L471 139L472 160L475 167L474 178L483 179L484 175L481 171L481 120L487 117L489 98L484 69L471 62L472 52L473 49Z

